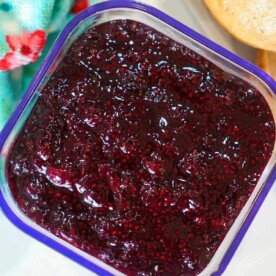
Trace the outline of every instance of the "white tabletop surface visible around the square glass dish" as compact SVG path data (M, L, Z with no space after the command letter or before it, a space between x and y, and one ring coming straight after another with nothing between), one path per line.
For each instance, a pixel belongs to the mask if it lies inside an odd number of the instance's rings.
M254 51L237 42L208 14L201 0L144 0L229 50L253 61ZM200 21L198 21L200 19ZM246 233L223 276L276 275L276 187ZM93 275L15 228L0 212L1 276Z

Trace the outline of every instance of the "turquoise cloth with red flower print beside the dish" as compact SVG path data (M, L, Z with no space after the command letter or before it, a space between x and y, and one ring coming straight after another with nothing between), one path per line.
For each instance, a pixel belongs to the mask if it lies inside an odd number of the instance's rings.
M66 22L95 0L0 0L0 130Z

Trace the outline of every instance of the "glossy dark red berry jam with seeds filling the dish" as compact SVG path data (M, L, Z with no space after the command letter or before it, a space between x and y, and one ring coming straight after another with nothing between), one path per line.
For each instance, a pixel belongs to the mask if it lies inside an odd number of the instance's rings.
M81 35L9 157L37 224L127 275L197 275L275 142L263 96L144 24Z

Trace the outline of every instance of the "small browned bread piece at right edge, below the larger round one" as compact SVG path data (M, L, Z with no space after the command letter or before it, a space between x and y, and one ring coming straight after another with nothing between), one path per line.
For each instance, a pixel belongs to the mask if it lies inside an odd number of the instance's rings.
M276 52L258 50L256 64L276 80Z

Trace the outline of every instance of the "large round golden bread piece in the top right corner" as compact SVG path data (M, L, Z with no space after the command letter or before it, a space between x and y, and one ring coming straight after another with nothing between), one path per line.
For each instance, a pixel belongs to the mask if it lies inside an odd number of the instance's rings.
M255 48L276 52L276 0L204 0L217 21Z

